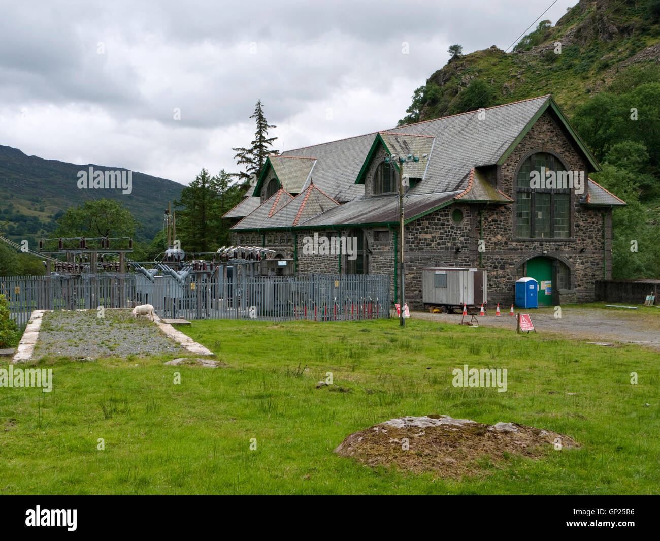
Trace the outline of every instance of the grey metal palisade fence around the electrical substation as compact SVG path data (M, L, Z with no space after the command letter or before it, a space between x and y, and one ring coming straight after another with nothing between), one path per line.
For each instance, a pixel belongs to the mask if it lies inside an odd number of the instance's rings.
M176 280L140 274L0 278L11 316L25 324L32 310L132 308L150 304L161 318L284 321L389 317L389 276L328 275L224 278L199 273Z

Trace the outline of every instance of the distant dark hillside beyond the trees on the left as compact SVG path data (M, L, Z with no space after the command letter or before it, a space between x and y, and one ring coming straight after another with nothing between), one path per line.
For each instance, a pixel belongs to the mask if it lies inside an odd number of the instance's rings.
M168 201L180 198L182 184L133 172L131 194L121 190L81 190L78 172L117 170L116 166L77 165L27 156L18 149L0 145L0 229L12 240L34 242L55 229L63 211L88 199L115 199L123 203L141 223L136 240L149 242L162 229L163 210Z

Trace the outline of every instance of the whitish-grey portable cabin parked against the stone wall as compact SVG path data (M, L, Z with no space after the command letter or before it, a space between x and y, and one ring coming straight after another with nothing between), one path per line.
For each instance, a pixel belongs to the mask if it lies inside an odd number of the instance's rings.
M488 301L486 270L477 267L429 267L422 269L425 305L481 305Z

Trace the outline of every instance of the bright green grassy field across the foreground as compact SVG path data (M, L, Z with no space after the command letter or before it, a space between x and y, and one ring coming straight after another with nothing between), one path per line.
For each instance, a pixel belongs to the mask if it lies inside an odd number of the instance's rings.
M33 364L53 369L52 392L0 387L0 493L660 492L660 353L422 320L182 330L227 366L47 357ZM507 392L453 387L464 364L508 369ZM334 385L316 389L327 372ZM461 481L332 452L354 431L426 414L524 423L583 447L512 455Z

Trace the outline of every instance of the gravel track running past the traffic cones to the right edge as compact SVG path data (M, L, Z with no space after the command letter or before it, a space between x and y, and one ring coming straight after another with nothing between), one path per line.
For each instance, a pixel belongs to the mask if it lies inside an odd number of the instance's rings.
M660 350L660 309L657 315L647 315L638 310L622 308L562 308L562 317L554 317L554 308L535 308L522 310L514 308L516 313L527 312L537 332L557 334L566 338L578 338L587 342L624 342L640 343ZM488 316L479 317L483 327L510 328L515 331L515 318L509 316L508 308L500 307L502 317L495 317L494 308L489 308ZM461 315L430 314L413 312L413 318L458 323Z

